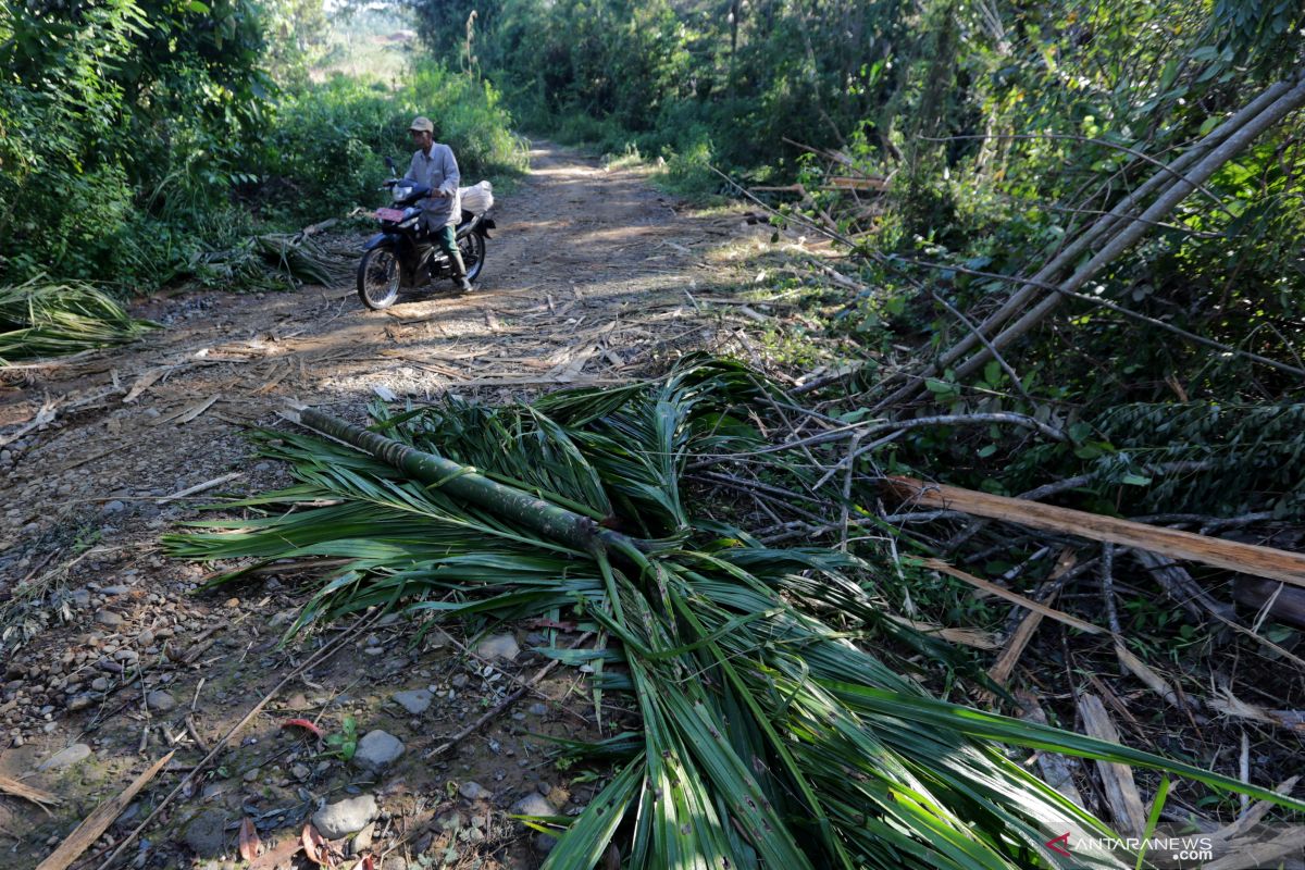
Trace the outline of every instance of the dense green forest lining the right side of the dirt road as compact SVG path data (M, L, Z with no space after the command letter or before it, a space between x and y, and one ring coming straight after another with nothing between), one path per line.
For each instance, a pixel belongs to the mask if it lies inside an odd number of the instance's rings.
M1018 288L1006 277L1032 275L1161 163L1305 63L1305 8L1289 0L407 5L436 52L474 60L530 127L617 155L664 157L663 183L681 192L736 193L713 166L743 184L799 181L801 193L761 201L784 215L776 222L837 235L852 254L844 271L865 290L822 288L818 275L778 290L806 288L843 352L870 364L861 386L928 357L903 355L903 342L929 351L967 335L966 320ZM927 373L933 404L1040 415L1069 424L1073 442L1026 455L996 432L942 428L886 446L883 458L1000 492L1092 472L1098 496L1128 479L1126 496L1109 501L1154 507L1137 485L1151 479L1139 463L1227 454L1199 423L1202 403L1232 403L1237 419L1251 419L1253 403L1297 391L1298 376L1131 314L1298 367L1302 202L1297 111L1082 288L1122 314L1066 305L1001 364ZM853 407L885 398L852 386ZM1193 403L1174 425L1121 432L1122 420L1163 416L1174 400ZM1300 440L1233 442L1233 458L1202 472L1194 490L1210 498L1190 496L1189 507L1297 511L1300 485L1250 487L1261 497L1240 498L1246 487L1218 481L1236 463L1296 468Z

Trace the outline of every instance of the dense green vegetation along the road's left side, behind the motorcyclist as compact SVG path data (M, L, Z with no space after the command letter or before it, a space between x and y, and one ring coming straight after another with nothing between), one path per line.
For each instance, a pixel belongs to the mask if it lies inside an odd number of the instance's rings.
M0 283L231 286L254 271L205 269L215 253L373 203L415 113L468 177L521 168L485 82L414 59L317 83L324 34L320 0L0 7Z

